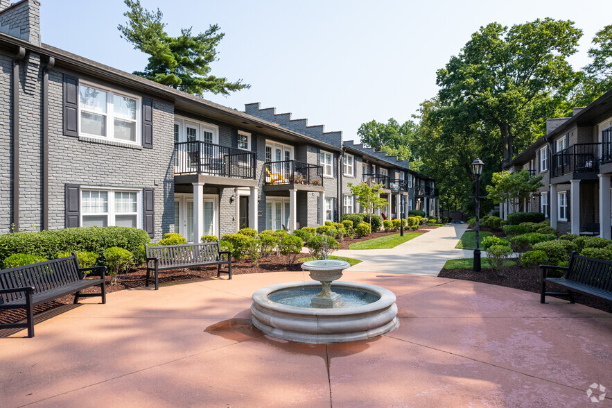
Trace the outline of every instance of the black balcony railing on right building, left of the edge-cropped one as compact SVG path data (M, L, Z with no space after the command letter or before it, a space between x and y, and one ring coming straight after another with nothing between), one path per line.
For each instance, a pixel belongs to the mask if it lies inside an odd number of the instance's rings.
M601 143L579 143L552 155L552 177L569 173L597 173Z

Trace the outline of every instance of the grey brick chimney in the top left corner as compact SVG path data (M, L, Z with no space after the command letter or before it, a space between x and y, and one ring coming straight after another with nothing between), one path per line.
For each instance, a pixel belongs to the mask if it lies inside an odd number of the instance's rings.
M37 0L15 3L0 0L0 33L40 46L40 3Z

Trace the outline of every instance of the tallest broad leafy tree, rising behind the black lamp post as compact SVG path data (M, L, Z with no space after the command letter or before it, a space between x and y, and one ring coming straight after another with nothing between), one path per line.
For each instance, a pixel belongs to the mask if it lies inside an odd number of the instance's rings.
M533 124L563 103L575 84L566 57L577 51L582 31L573 24L549 18L511 28L491 23L437 72L444 105L467 108L498 128L502 163L512 160L516 138L529 140L523 145L535 139Z

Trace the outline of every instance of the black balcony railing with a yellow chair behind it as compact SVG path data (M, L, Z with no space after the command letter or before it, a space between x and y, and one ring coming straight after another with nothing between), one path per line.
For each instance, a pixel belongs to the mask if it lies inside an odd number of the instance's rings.
M284 160L264 164L265 184L323 185L323 167L316 164Z

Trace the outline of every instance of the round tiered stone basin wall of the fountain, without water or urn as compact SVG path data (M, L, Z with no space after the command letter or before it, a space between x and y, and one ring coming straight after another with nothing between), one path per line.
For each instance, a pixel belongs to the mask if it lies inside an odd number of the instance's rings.
M334 282L333 291L356 292L366 304L317 308L284 305L272 299L283 293L318 291L319 282L290 282L259 289L253 294L253 325L271 337L301 343L341 343L380 336L399 326L392 291L371 284ZM362 294L362 295L361 295ZM342 295L342 298L347 296ZM271 299L272 298L272 299Z

